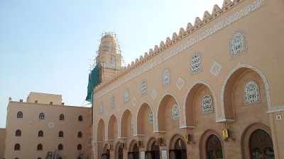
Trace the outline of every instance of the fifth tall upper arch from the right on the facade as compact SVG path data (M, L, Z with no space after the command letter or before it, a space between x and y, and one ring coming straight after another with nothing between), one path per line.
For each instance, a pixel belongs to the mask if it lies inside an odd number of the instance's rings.
M121 121L120 121L120 139L127 139L127 119L129 117L129 115L131 115L131 117L133 117L133 113L131 112L131 110L126 107L124 112L121 114ZM135 122L134 122L134 126L135 126ZM134 131L134 129L133 129Z

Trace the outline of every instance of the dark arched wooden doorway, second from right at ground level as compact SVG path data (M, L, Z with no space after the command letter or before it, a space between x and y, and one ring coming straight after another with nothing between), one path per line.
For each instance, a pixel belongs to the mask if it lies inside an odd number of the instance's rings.
M208 159L223 158L222 143L217 136L209 136L206 144L206 152Z

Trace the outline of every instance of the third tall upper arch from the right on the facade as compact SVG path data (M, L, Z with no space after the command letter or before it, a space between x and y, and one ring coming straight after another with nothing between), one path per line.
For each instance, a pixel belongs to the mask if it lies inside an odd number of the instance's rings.
M167 103L171 100L174 99L176 104L179 107L178 113L180 114L180 103L178 102L178 98L173 95L173 93L169 93L168 91L165 92L165 94L162 96L162 98L159 101L158 107L157 107L157 112L156 112L156 117L155 121L156 124L154 126L154 132L165 132L166 131L166 126L165 126L165 108L163 107L167 105ZM181 117L179 119L180 125L181 125Z

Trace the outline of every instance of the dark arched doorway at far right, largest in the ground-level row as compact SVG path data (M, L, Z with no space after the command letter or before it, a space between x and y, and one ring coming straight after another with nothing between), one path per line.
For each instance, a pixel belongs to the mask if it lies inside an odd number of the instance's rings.
M256 131L251 134L249 147L252 159L275 158L271 136L262 129L256 129Z

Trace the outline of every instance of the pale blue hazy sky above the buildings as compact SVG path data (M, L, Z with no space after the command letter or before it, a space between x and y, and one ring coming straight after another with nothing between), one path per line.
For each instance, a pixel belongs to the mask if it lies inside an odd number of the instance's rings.
M102 33L114 32L123 66L223 0L0 0L0 128L6 108L30 92L88 107L90 64Z

